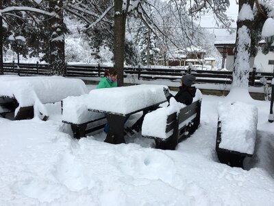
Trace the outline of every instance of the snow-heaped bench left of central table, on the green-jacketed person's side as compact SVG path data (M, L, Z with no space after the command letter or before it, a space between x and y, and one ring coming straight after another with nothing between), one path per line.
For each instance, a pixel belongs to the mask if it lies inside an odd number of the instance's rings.
M73 137L77 139L105 126L105 115L88 111L90 101L88 94L62 100L62 122L71 125Z

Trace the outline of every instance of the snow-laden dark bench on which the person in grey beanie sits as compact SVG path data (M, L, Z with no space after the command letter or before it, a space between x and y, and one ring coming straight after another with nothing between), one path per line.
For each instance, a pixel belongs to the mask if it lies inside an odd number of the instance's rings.
M197 89L192 104L186 106L170 100L170 106L145 115L142 137L154 139L155 148L175 150L177 144L190 137L200 124L201 91Z

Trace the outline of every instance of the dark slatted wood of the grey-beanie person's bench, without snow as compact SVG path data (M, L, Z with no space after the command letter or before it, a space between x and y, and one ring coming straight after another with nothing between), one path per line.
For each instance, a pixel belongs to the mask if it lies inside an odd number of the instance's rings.
M177 144L190 137L200 124L201 101L197 100L192 104L182 108L177 113L172 113L166 119L166 134L172 133L168 138L142 136L155 140L155 148L162 150L175 150Z

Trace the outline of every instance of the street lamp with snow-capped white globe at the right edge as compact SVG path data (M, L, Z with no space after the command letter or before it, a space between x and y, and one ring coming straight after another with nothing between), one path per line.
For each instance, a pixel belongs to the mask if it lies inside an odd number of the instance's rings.
M264 26L262 27L262 36L266 41L266 47L270 48L274 41L274 19L269 18L264 22ZM271 62L271 61L269 61ZM274 64L273 64L274 65ZM271 81L271 103L270 103L270 112L269 112L269 122L274 122L273 115L273 101L274 101L274 69L273 69L273 78Z

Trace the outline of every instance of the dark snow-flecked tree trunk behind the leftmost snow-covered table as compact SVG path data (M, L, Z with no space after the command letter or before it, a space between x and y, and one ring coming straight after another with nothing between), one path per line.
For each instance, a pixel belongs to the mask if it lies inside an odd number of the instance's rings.
M49 19L50 38L50 75L65 76L66 62L64 56L64 22L63 22L62 0L49 0L49 10L57 15Z

